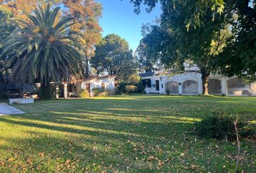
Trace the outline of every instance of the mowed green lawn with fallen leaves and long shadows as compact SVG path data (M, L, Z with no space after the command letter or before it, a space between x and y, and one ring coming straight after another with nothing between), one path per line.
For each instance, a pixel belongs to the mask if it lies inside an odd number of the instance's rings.
M236 143L198 138L213 112L255 125L256 98L127 96L36 101L0 116L0 172L235 172ZM255 141L242 140L255 172Z

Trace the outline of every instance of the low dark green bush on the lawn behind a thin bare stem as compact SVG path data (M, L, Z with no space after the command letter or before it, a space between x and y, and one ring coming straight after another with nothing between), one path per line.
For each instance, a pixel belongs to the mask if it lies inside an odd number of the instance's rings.
M234 128L234 121L236 117L232 115L211 115L204 117L200 122L195 123L195 130L198 136L203 138L216 138L218 140L234 140L236 138L236 131ZM239 129L239 136L244 138L252 133L248 123L238 120L237 127Z

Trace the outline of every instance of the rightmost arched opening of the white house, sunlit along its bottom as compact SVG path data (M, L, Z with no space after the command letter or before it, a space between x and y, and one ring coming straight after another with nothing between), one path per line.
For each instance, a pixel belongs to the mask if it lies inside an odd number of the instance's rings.
M242 79L232 78L232 79L229 79L227 83L228 83L228 94L234 94L234 95L250 94L249 86L245 84L245 82Z

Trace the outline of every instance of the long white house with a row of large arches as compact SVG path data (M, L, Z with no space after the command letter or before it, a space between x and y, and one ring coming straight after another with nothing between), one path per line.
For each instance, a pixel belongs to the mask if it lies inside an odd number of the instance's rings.
M198 72L184 71L171 75L170 72L156 71L140 74L145 92L155 94L202 94L202 79ZM211 74L208 82L209 94L230 96L256 96L256 82L245 83L237 77L226 78Z

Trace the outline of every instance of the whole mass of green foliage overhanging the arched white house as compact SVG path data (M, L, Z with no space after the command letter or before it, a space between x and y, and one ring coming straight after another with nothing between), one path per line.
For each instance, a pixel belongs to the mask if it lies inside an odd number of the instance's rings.
M157 2L132 0L135 12L142 3L150 11ZM256 9L249 7L255 0L160 2L161 25L148 30L138 48L146 66L159 59L167 68L184 70L189 61L200 68L204 84L210 72L255 80Z

